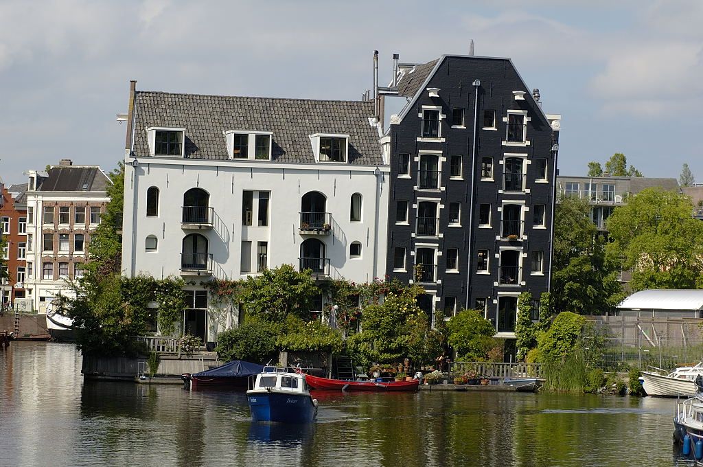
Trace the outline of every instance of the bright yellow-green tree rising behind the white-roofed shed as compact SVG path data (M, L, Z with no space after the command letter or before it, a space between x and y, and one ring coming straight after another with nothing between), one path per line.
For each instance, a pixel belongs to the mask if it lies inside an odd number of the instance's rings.
M703 287L703 222L688 196L647 188L607 220L607 255L632 269L633 290Z

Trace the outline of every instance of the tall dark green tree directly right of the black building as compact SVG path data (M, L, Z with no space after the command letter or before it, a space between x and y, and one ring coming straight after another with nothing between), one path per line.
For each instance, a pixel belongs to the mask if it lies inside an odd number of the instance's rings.
M622 298L618 263L605 255L605 238L587 200L559 199L554 222L551 306L555 312L602 314Z

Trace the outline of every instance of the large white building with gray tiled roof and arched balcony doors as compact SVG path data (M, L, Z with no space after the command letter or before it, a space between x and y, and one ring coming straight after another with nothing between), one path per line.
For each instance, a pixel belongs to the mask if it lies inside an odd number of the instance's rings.
M384 276L389 167L373 102L168 94L132 82L129 109L123 274L183 277L184 331L214 341L202 286L213 278L280 264L321 281Z

